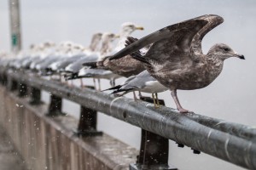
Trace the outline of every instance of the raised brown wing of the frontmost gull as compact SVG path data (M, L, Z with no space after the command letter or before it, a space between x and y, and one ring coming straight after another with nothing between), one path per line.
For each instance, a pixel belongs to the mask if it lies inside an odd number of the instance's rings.
M173 56L184 57L187 54L190 57L196 58L197 54L202 53L202 38L208 31L211 31L223 21L223 18L218 15L207 14L172 26L166 26L139 39L137 42L131 43L131 45L123 48L117 54L110 57L110 59L119 59L150 43L153 43L153 45L145 55L149 59L170 59Z

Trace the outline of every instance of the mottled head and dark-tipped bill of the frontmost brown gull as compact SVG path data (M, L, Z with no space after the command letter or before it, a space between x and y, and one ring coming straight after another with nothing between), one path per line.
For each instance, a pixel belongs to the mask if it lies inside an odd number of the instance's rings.
M217 43L212 46L212 48L209 50L208 54L213 54L218 57L218 59L228 59L230 57L236 57L239 59L245 59L242 54L237 54L236 51L234 51L230 46L224 44L224 43Z

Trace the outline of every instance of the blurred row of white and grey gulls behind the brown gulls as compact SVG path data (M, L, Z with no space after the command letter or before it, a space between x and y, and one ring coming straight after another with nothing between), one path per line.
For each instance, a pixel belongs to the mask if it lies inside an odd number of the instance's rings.
M88 69L84 62L96 62L104 59L107 55L115 54L125 48L125 38L133 31L143 30L142 26L126 22L121 26L119 34L109 32L96 33L92 36L90 46L84 48L73 42L44 42L39 45L31 45L30 49L20 51L19 54L2 57L0 65L20 71L31 71L40 76L64 76L66 80L82 77L94 77L94 79L109 79L112 86L114 80L122 75L102 69ZM119 39L116 48L113 48L114 40ZM142 65L143 66L143 65ZM142 69L134 71L137 74Z

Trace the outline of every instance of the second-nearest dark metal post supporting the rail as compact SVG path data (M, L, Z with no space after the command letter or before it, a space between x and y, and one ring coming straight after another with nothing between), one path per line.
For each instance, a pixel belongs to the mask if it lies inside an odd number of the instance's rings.
M86 88L94 89L94 87L86 87ZM74 133L83 137L102 135L102 132L99 132L96 130L96 121L97 121L97 111L91 110L81 105L79 126Z

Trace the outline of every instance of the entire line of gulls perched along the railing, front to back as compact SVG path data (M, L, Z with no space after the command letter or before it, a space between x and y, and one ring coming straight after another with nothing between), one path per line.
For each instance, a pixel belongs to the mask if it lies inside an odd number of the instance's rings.
M223 68L224 59L245 59L228 45L218 43L202 54L201 40L214 27L223 22L218 15L202 15L166 26L146 37L129 37L143 27L125 23L119 35L96 33L89 48L72 42L55 45L45 42L32 46L15 58L1 58L0 66L15 70L36 72L41 76L60 75L66 80L93 78L101 91L100 79L110 80L112 94L124 95L135 91L152 94L155 107L159 107L157 94L171 90L177 110L186 113L177 99L177 89L192 90L207 87ZM117 47L113 41L119 38ZM100 46L100 44L102 44ZM99 48L100 47L100 48ZM115 86L115 79L127 77ZM83 81L81 81L81 86Z

